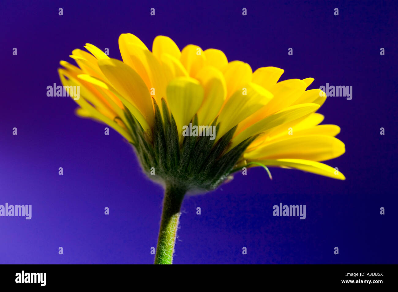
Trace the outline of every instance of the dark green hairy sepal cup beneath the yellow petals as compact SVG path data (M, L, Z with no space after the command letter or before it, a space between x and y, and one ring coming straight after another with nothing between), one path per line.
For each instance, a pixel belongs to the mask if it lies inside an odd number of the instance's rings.
M160 178L166 184L179 185L187 190L213 190L233 172L233 167L242 160L243 152L256 139L249 137L228 149L237 126L216 143L207 136L179 137L176 122L166 101L162 99L163 118L158 104L155 100L153 102L155 122L151 133L144 132L127 108L125 112L139 161L154 180ZM191 123L198 126L197 115ZM216 133L218 132L220 124L217 123L217 118L210 126L216 126ZM151 173L152 167L155 168L155 175Z

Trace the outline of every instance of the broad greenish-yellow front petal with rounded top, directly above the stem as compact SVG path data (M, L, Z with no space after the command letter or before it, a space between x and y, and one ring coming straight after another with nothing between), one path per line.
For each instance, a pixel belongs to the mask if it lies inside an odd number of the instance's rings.
M199 81L191 77L178 77L168 84L166 92L168 106L181 138L182 127L189 125L203 102L203 88Z

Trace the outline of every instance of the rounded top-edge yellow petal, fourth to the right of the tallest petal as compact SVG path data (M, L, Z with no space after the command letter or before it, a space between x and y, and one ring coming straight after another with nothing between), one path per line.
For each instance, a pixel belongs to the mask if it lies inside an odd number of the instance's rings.
M245 84L252 82L252 68L248 63L243 63L242 61L232 61L224 67L224 78L227 88L226 100L236 90L242 91Z

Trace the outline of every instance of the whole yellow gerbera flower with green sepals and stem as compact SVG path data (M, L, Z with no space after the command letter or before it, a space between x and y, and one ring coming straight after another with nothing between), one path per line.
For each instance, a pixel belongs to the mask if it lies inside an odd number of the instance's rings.
M284 167L344 180L320 163L342 155L340 128L319 125L326 100L313 78L279 81L283 70L228 62L217 49L154 39L152 52L135 35L119 37L123 59L91 44L66 61L64 86L80 86L78 116L103 122L133 146L148 177L165 186L155 263L172 263L184 194L213 190L244 167ZM189 134L184 133L189 125ZM196 126L196 135L191 129ZM199 128L199 130L198 130ZM214 139L207 135L215 129ZM199 137L198 137L199 136Z

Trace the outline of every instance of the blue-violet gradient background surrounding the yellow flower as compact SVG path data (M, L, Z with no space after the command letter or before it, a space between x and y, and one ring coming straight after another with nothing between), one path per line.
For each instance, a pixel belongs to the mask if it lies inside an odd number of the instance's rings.
M33 214L0 217L0 263L153 263L162 188L115 131L105 136L104 125L76 117L70 98L46 96L73 49L89 42L121 59L126 32L149 48L167 35L180 49L221 49L254 70L281 67L281 80L315 78L310 89L353 86L352 100L329 97L319 111L341 127L346 153L327 163L347 180L273 168L270 181L256 168L186 197L175 264L398 263L396 2L187 3L1 2L0 204L32 205ZM306 219L273 217L279 202L306 205Z

